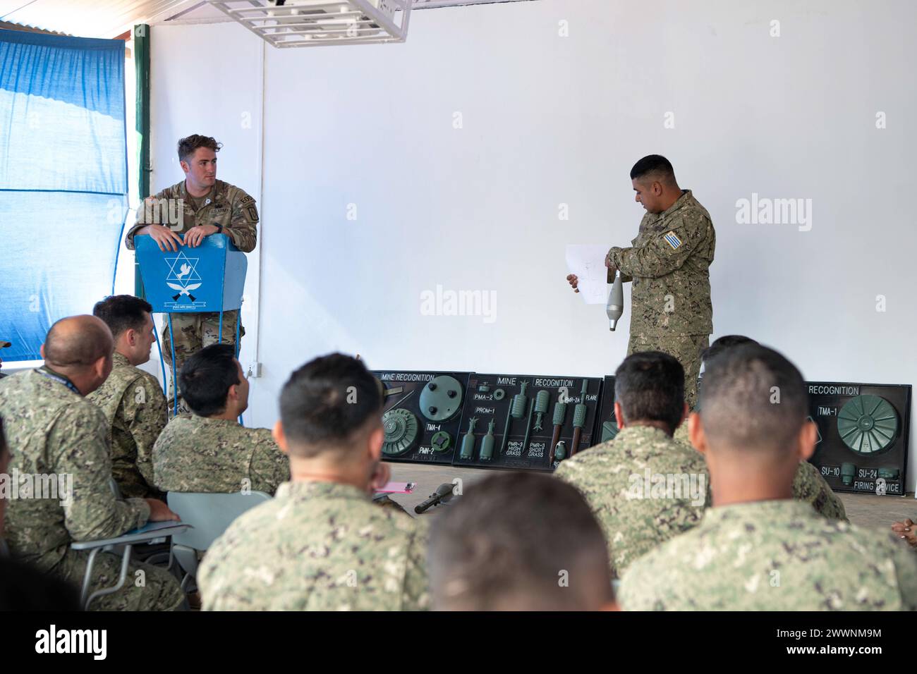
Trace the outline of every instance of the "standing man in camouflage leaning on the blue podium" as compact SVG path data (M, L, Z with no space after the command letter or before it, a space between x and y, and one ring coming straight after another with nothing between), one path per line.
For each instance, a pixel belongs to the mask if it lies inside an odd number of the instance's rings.
M180 234L191 248L200 246L204 237L226 234L242 252L255 249L258 208L249 194L216 180L216 153L221 147L222 143L214 138L198 134L178 141L178 158L185 178L144 201L137 223L127 232L127 249L134 249L134 237L139 235L152 237L163 251L176 251L182 245ZM236 343L238 311L223 314L222 340L218 312L171 314L171 320L176 362L171 362L169 326L162 330L162 355L175 372L201 348L217 341ZM241 324L238 335L245 335Z

